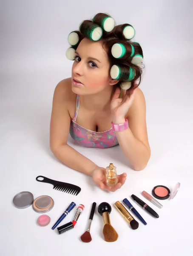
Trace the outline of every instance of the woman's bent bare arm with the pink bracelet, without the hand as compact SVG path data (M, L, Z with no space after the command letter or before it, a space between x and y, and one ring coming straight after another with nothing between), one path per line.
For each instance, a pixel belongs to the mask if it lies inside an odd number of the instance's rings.
M128 111L129 128L116 131L119 145L136 171L146 167L150 158L150 146L146 127L146 105L142 91L137 88L133 104ZM123 123L125 119L115 119L114 123Z

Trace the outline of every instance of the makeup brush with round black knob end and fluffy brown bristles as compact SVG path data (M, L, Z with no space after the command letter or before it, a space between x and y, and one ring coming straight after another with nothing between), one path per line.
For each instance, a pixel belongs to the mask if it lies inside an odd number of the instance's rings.
M103 227L103 236L106 242L114 242L118 239L118 234L111 226L110 213L111 205L103 202L98 206L98 212L102 216L105 226Z

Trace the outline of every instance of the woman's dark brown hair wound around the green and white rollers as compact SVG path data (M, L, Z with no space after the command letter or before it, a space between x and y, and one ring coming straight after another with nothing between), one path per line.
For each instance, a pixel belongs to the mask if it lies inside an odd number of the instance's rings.
M77 32L79 35L79 42L77 43L77 45L75 47L72 47L72 48L77 49L79 43L82 41L83 38L86 37L86 38L90 39L89 36L87 36L86 28L91 26L92 24L94 26L96 24L100 26L101 20L106 16L107 16L107 14L98 13L97 15L94 16L94 19L93 19L94 22L92 20L84 20L80 25L79 31L74 31L74 32ZM109 17L111 17L111 16L109 15ZM124 23L121 25L117 25L114 27L114 29L111 32L105 32L103 29L103 34L102 34L102 37L99 39L99 41L102 42L102 45L108 55L108 59L110 62L109 73L110 73L111 67L113 65L119 65L124 70L129 70L130 67L133 68L135 76L131 80L130 89L128 89L129 91L130 90L132 91L133 87L134 87L134 81L136 79L139 79L139 84L141 82L142 67L141 66L139 67L138 65L131 63L132 58L133 58L133 56L131 57L131 52L132 52L131 45L134 48L134 55L139 54L139 55L142 55L142 57L143 57L143 51L142 51L142 48L139 43L132 42L131 40L126 39L125 36L123 35L123 29L125 28L125 26L128 26L128 25L130 25L130 24ZM111 53L111 48L116 43L123 44L126 48L126 54L122 58L114 58ZM114 85L112 94L116 90L116 87L118 87L118 86L120 87L121 81L125 81L125 80L119 80L119 82L117 82L117 84ZM138 86L139 86L139 84L138 84Z

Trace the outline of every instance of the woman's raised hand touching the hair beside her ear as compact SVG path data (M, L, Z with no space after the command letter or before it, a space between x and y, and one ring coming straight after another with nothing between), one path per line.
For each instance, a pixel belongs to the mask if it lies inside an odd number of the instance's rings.
M123 120L125 122L125 115L128 113L131 107L135 95L137 84L134 85L134 89L126 90L126 94L123 99L119 99L121 89L118 87L115 90L114 96L111 100L111 115L113 117L113 122L116 120Z

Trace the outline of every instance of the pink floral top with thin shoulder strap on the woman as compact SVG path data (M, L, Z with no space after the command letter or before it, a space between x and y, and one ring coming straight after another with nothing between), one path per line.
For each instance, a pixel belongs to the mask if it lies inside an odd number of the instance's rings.
M115 132L113 129L109 129L108 131L91 131L85 129L81 125L77 124L77 115L79 111L80 105L80 96L77 95L76 102L76 111L74 114L74 118L71 119L70 124L70 135L71 137L80 145L85 147L94 147L94 148L110 148L118 145L118 140L116 138Z

